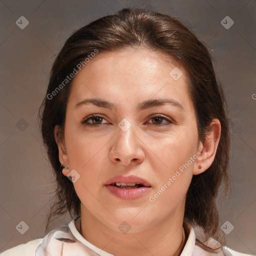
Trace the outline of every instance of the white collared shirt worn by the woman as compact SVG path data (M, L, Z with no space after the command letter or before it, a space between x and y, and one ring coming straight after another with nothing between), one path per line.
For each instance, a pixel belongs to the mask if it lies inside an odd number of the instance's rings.
M0 253L0 256L114 256L89 241L87 241L80 232L76 229L75 221L79 218L71 220L68 226L58 227L43 238L31 240L27 243L20 244L11 249ZM188 223L183 223L187 233L187 240L180 256L248 256L249 254L239 253L224 246L220 247L216 252L208 252L199 246L196 242L194 228ZM199 233L198 233L199 236ZM215 247L219 245L216 240L210 238L207 240L207 245ZM217 246L219 247L219 246Z

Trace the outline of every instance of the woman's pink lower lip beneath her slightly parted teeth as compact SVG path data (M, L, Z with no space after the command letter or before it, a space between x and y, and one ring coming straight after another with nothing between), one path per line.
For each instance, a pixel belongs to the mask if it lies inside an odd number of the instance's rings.
M137 188L119 188L113 185L106 185L106 188L115 196L122 199L135 199L149 192L150 186Z

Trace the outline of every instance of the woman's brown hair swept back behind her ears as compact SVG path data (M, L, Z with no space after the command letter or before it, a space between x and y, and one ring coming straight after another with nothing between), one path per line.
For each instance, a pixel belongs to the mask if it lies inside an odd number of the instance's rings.
M141 47L164 53L186 70L199 140L204 140L213 118L220 121L221 136L215 158L206 171L193 175L186 195L184 219L203 228L206 238L213 236L222 244L218 233L216 197L221 182L224 191L230 188L228 107L223 89L216 80L206 46L176 18L148 9L124 8L114 15L104 16L81 27L66 40L53 63L40 114L42 138L57 183L57 200L50 209L47 226L52 216L67 211L70 216L80 214L80 200L72 182L61 172L63 167L59 162L54 139L55 125L59 125L63 131L72 79L54 96L49 95L53 95L52 91L56 91L66 75L95 49L100 54L116 49Z

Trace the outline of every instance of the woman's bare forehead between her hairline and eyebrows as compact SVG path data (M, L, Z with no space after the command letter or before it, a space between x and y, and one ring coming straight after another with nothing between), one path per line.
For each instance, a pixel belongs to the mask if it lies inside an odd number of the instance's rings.
M73 78L69 98L73 104L84 97L137 104L171 96L189 108L186 72L177 65L174 59L147 49L99 52Z

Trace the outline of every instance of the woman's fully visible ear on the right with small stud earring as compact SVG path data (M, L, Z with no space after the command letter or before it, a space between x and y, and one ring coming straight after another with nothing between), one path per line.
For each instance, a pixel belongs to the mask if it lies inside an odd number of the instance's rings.
M218 119L212 119L210 132L206 135L204 142L199 142L198 151L201 154L194 162L193 174L197 175L205 171L212 164L221 134L221 125ZM201 165L201 168L198 166Z

